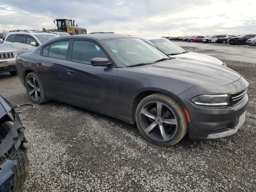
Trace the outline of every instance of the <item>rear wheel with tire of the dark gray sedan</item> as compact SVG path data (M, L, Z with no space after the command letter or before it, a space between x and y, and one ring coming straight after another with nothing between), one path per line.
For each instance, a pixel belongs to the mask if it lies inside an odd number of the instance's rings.
M31 102L42 104L48 102L42 84L35 73L29 73L25 80L26 91Z

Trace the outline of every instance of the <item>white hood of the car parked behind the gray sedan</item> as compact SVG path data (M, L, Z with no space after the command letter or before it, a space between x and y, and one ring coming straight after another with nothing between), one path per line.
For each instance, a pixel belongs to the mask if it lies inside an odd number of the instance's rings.
M187 52L183 54L178 54L178 55L170 55L171 58L186 58L186 59L193 59L193 60L199 60L203 61L209 64L218 64L222 65L223 62L218 60L217 58L214 58L212 56L200 54L200 53L194 53L194 52Z

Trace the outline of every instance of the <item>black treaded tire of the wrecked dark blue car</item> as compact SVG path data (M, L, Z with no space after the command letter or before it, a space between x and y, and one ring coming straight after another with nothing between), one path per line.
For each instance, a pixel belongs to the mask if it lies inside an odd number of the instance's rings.
M11 128L11 124L9 122L4 122L0 124L0 134L1 136L6 136L8 131ZM12 179L12 188L15 190L20 188L29 175L29 164L28 164L28 156L27 154L18 149L16 152L14 159L17 161L17 165L12 168L14 172L14 178Z

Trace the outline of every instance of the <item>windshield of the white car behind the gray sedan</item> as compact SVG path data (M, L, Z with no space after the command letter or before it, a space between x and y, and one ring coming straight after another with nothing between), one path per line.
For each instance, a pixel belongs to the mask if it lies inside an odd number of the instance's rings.
M166 55L182 54L186 52L180 46L167 39L153 39L150 40L150 42L152 42L160 51L164 52Z

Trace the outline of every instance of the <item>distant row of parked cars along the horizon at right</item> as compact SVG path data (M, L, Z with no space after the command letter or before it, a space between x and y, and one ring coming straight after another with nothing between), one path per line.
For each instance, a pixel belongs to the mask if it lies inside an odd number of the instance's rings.
M256 46L256 34L243 35L211 35L211 36L185 36L185 37L165 37L169 40L180 40L187 42L204 42L204 43L229 43L231 45L246 44L249 46Z

